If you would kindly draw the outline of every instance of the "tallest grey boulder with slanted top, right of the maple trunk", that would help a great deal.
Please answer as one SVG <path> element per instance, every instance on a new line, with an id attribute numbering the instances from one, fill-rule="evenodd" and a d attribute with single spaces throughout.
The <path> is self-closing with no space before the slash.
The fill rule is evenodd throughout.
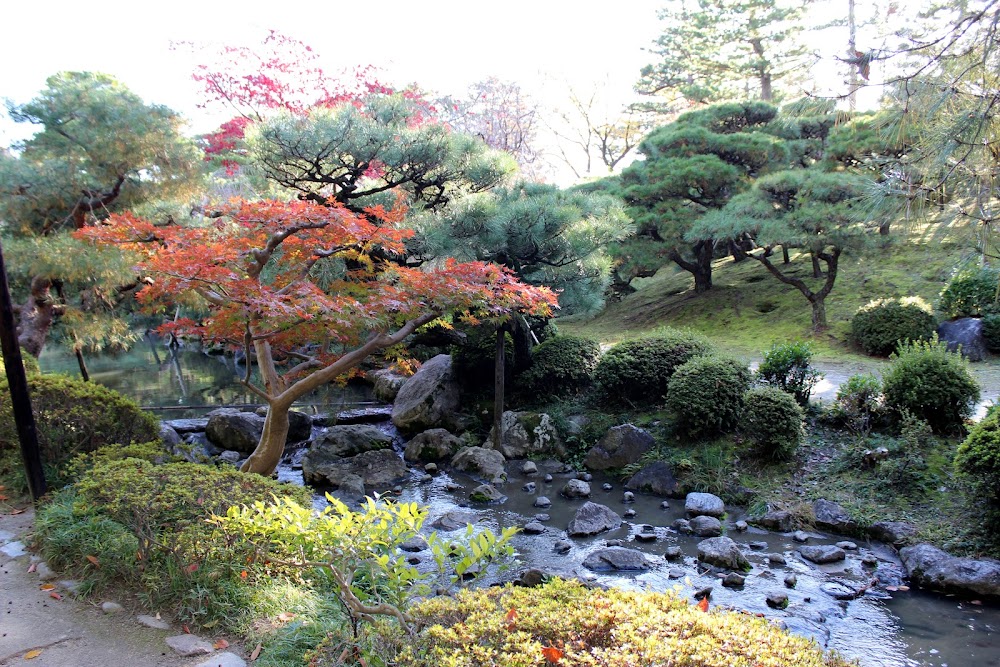
<path id="1" fill-rule="evenodd" d="M 396 394 L 392 423 L 404 433 L 429 428 L 455 428 L 459 408 L 459 386 L 451 368 L 451 356 L 439 354 L 425 362 Z"/>

